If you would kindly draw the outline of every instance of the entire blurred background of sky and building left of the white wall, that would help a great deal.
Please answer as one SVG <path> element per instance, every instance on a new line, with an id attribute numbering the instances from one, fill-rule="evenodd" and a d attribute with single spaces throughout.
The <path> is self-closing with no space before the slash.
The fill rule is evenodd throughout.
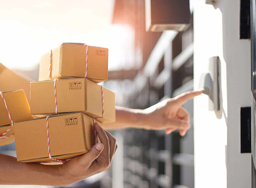
<path id="1" fill-rule="evenodd" d="M 145 109 L 194 88 L 193 0 L 180 2 L 190 6 L 187 30 L 146 32 L 145 0 L 0 0 L 0 62 L 38 80 L 41 55 L 61 43 L 109 48 L 104 86 L 115 91 L 116 105 Z M 193 101 L 184 108 L 191 114 L 185 137 L 113 131 L 110 170 L 68 187 L 194 188 Z M 0 152 L 15 156 L 15 144 Z"/>

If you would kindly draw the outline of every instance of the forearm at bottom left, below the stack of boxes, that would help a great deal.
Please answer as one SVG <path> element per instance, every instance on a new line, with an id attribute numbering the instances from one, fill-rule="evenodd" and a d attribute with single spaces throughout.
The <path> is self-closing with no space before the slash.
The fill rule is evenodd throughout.
<path id="1" fill-rule="evenodd" d="M 2 185 L 65 185 L 59 165 L 17 162 L 16 158 L 0 154 L 0 184 Z"/>

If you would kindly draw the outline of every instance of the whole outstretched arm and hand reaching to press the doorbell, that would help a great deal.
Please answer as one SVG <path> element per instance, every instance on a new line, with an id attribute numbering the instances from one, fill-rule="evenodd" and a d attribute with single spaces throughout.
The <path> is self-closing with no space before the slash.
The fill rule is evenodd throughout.
<path id="1" fill-rule="evenodd" d="M 203 91 L 189 91 L 161 101 L 147 109 L 116 107 L 116 122 L 103 124 L 103 127 L 105 129 L 165 129 L 166 134 L 179 129 L 180 135 L 184 136 L 190 127 L 190 122 L 189 113 L 182 107 L 182 104 L 202 93 Z"/>

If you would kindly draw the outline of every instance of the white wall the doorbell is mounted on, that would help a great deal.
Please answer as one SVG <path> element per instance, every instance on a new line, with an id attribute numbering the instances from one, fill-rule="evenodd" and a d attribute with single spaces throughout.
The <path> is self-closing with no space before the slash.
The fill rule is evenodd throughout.
<path id="1" fill-rule="evenodd" d="M 251 105 L 250 41 L 239 39 L 240 0 L 194 3 L 194 85 L 219 56 L 220 111 L 206 95 L 194 105 L 195 187 L 251 188 L 251 154 L 240 153 L 240 108 Z"/>

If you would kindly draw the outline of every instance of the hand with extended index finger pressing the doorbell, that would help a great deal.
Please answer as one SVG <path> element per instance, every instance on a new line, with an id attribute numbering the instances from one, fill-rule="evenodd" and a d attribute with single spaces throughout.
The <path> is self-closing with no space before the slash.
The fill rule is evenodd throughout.
<path id="1" fill-rule="evenodd" d="M 179 129 L 179 134 L 184 136 L 190 128 L 189 113 L 182 107 L 189 99 L 203 93 L 201 91 L 188 91 L 177 97 L 169 98 L 143 110 L 141 127 L 148 130 L 163 130 L 170 134 Z"/>

